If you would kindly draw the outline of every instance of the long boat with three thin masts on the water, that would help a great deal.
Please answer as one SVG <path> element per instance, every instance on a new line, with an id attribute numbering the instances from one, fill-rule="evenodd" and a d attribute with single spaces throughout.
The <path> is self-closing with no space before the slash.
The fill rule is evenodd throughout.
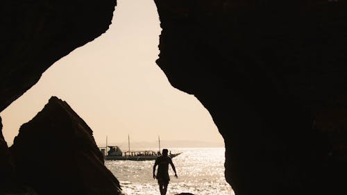
<path id="1" fill-rule="evenodd" d="M 128 135 L 128 151 L 123 152 L 119 148 L 119 146 L 108 146 L 107 144 L 107 137 L 106 137 L 106 147 L 101 149 L 101 152 L 104 155 L 105 160 L 155 160 L 158 158 L 158 156 L 161 155 L 160 153 L 160 137 L 158 137 L 159 141 L 159 151 L 130 151 L 130 137 Z M 109 150 L 108 150 L 109 148 Z M 181 153 L 171 153 L 169 152 L 169 157 L 174 158 Z"/>

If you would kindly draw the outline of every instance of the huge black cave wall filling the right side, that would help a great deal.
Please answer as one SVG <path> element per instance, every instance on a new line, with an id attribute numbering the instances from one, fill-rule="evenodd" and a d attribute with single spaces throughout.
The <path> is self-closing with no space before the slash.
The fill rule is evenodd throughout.
<path id="1" fill-rule="evenodd" d="M 346 1 L 154 1 L 157 64 L 210 111 L 236 194 L 346 194 L 346 137 L 316 125 L 346 105 Z"/>

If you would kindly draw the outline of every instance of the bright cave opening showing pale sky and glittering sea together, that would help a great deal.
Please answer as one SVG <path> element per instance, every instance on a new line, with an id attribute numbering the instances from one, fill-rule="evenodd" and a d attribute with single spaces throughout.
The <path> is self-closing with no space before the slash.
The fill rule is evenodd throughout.
<path id="1" fill-rule="evenodd" d="M 162 148 L 182 151 L 173 160 L 179 177 L 172 176 L 169 193 L 232 194 L 224 178 L 223 138 L 210 113 L 194 95 L 172 87 L 155 65 L 160 31 L 152 0 L 118 1 L 105 34 L 56 62 L 0 113 L 8 144 L 51 96 L 58 96 L 94 130 L 98 146 L 105 146 L 108 137 L 108 144 L 125 151 L 130 135 L 131 149 L 156 150 L 160 136 Z M 139 162 L 126 163 L 105 165 L 127 194 L 157 193 L 153 162 L 141 162 L 140 168 Z"/>

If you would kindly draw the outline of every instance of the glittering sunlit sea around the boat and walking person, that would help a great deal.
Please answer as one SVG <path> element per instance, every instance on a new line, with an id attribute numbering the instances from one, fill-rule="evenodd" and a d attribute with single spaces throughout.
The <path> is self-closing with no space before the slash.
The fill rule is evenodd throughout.
<path id="1" fill-rule="evenodd" d="M 178 178 L 169 166 L 170 183 L 167 195 L 192 193 L 195 195 L 235 195 L 224 178 L 224 148 L 168 148 L 171 153 L 182 152 L 172 158 Z M 156 151 L 156 150 L 155 150 Z M 160 194 L 153 179 L 154 160 L 105 161 L 105 166 L 118 178 L 123 194 Z M 158 169 L 158 167 L 157 167 Z"/>

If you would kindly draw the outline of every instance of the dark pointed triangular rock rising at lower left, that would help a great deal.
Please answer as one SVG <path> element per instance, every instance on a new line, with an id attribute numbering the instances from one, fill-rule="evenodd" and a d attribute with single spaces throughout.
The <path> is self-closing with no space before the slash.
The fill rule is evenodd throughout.
<path id="1" fill-rule="evenodd" d="M 55 96 L 21 126 L 10 151 L 19 178 L 40 195 L 120 192 L 90 127 Z"/>

